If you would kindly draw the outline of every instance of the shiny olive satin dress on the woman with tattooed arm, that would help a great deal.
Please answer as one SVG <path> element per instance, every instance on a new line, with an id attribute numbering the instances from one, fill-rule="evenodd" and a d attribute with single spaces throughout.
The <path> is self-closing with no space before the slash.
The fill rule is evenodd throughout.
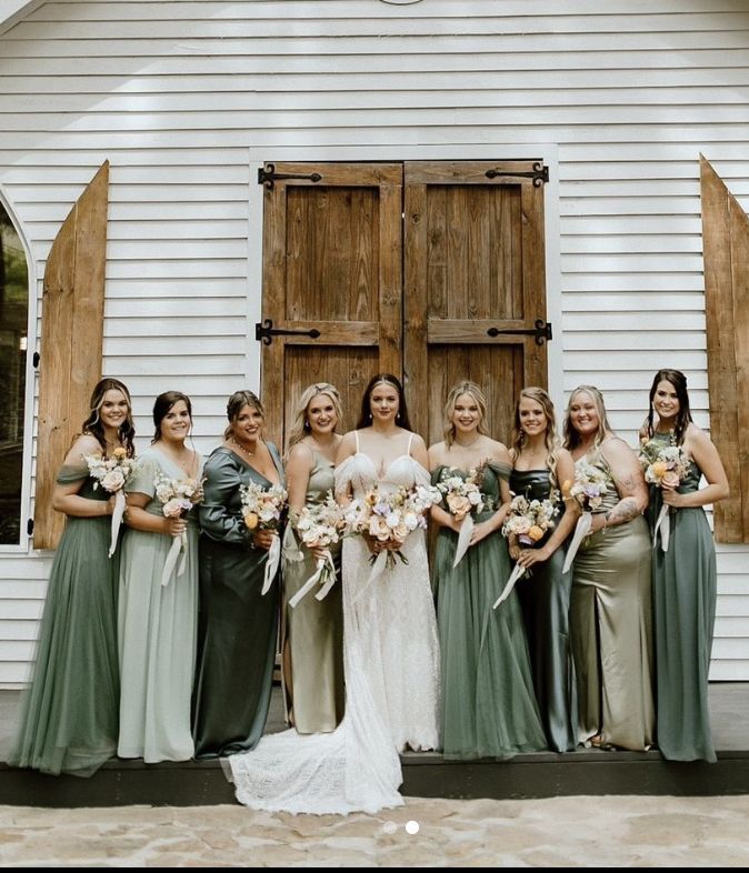
<path id="1" fill-rule="evenodd" d="M 586 461 L 607 476 L 597 513 L 621 500 L 606 459 Z M 648 524 L 638 515 L 580 544 L 572 568 L 570 634 L 578 682 L 579 739 L 632 751 L 653 742 L 652 625 Z"/>

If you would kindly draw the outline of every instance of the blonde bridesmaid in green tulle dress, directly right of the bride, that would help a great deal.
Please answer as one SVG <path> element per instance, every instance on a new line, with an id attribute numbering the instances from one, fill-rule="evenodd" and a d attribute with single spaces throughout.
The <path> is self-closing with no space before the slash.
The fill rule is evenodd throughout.
<path id="1" fill-rule="evenodd" d="M 445 404 L 445 440 L 429 449 L 432 484 L 479 471 L 487 505 L 473 513 L 471 545 L 453 569 L 466 514 L 433 505 L 439 525 L 433 581 L 442 660 L 440 741 L 445 757 L 510 757 L 546 747 L 517 596 L 492 604 L 510 575 L 499 534 L 510 500 L 507 448 L 487 435 L 487 403 L 460 382 Z"/>

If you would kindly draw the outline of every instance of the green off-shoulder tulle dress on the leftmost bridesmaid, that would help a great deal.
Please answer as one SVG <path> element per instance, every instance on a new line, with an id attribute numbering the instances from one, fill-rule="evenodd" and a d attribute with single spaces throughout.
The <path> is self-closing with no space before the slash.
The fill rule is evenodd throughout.
<path id="1" fill-rule="evenodd" d="M 80 496 L 109 500 L 86 465 L 63 466 L 59 484 L 83 481 Z M 119 550 L 108 558 L 111 516 L 68 516 L 41 619 L 31 688 L 8 763 L 90 776 L 117 752 Z M 127 534 L 123 539 L 127 539 Z"/>

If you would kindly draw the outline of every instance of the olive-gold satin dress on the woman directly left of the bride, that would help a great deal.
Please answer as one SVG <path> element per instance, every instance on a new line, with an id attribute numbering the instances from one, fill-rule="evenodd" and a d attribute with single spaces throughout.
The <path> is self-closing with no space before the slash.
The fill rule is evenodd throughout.
<path id="1" fill-rule="evenodd" d="M 333 463 L 312 452 L 314 465 L 307 488 L 307 504 L 324 503 L 333 491 Z M 300 545 L 292 525 L 283 538 L 284 636 L 291 659 L 291 678 L 286 685 L 289 718 L 299 733 L 334 731 L 343 718 L 343 604 L 341 600 L 341 544 L 332 545 L 337 581 L 323 600 L 310 591 L 293 608 L 289 600 L 317 572 L 309 549 Z"/>

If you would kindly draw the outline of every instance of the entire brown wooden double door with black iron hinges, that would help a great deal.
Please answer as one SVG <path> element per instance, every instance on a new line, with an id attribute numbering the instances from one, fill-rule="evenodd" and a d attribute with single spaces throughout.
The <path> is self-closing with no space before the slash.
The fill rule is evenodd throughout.
<path id="1" fill-rule="evenodd" d="M 390 372 L 428 444 L 462 379 L 507 442 L 519 389 L 547 384 L 545 173 L 530 160 L 266 164 L 256 330 L 271 438 L 321 381 L 353 428 L 368 381 Z"/>

